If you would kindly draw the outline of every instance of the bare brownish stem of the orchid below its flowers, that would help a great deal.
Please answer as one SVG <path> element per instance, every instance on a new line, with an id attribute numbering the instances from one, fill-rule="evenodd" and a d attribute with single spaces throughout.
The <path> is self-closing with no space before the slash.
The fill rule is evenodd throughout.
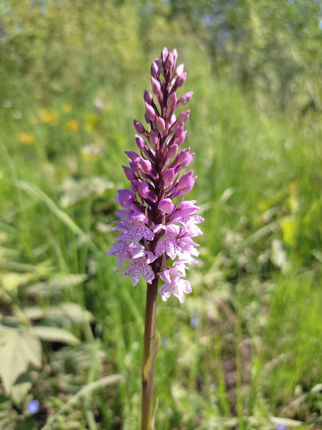
<path id="1" fill-rule="evenodd" d="M 143 369 L 149 356 L 155 348 L 155 319 L 157 307 L 159 276 L 155 275 L 152 284 L 148 284 L 146 290 L 146 317 L 144 326 L 144 346 L 143 346 Z M 150 430 L 153 403 L 153 369 L 154 359 L 149 365 L 149 371 L 142 377 L 142 420 L 141 430 Z"/>

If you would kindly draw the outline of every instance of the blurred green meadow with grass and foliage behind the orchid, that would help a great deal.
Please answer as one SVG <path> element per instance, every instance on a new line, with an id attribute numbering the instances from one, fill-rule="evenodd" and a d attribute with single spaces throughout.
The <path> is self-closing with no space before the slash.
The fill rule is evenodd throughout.
<path id="1" fill-rule="evenodd" d="M 155 429 L 321 427 L 322 3 L 1 0 L 1 429 L 139 428 L 146 285 L 103 253 L 164 46 L 205 222 Z"/>

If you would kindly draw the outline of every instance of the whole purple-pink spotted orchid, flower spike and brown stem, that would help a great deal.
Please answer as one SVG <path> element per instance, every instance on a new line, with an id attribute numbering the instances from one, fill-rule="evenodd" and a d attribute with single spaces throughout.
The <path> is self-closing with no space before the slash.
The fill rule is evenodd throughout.
<path id="1" fill-rule="evenodd" d="M 191 292 L 185 279 L 186 264 L 197 263 L 194 257 L 199 254 L 198 244 L 193 238 L 202 234 L 196 225 L 203 221 L 196 215 L 199 209 L 196 202 L 181 197 L 191 190 L 197 177 L 192 170 L 180 174 L 194 154 L 190 154 L 190 148 L 179 151 L 190 111 L 182 112 L 178 118 L 174 111 L 190 101 L 192 92 L 177 99 L 176 90 L 187 76 L 183 64 L 176 66 L 177 58 L 176 49 L 164 48 L 161 59 L 152 63 L 151 85 L 156 100 L 151 93 L 144 92 L 147 129 L 139 121 L 133 121 L 139 154 L 125 151 L 130 167 L 122 167 L 131 189 L 118 190 L 115 195 L 122 209 L 115 212 L 121 220 L 116 221 L 113 231 L 121 234 L 106 252 L 117 257 L 116 272 L 130 261 L 122 276 L 131 276 L 133 286 L 141 275 L 147 282 L 143 364 L 148 367 L 143 371 L 141 430 L 149 430 L 151 426 L 157 294 L 163 301 L 173 295 L 183 302 L 184 294 Z M 163 281 L 160 287 L 159 279 Z"/>

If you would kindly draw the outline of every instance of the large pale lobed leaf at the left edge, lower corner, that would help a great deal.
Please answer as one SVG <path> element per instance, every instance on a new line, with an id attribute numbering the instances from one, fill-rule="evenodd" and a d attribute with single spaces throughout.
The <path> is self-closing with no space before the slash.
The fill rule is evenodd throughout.
<path id="1" fill-rule="evenodd" d="M 0 338 L 0 377 L 6 395 L 19 375 L 28 366 L 41 367 L 41 343 L 29 330 L 1 327 Z"/>

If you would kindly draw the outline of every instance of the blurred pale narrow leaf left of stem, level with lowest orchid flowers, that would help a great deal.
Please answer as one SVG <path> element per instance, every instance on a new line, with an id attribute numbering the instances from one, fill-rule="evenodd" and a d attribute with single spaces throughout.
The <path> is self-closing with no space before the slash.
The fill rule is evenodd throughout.
<path id="1" fill-rule="evenodd" d="M 27 288 L 27 294 L 48 297 L 55 295 L 64 288 L 70 288 L 84 282 L 87 275 L 54 276 L 46 282 L 39 282 Z"/>

